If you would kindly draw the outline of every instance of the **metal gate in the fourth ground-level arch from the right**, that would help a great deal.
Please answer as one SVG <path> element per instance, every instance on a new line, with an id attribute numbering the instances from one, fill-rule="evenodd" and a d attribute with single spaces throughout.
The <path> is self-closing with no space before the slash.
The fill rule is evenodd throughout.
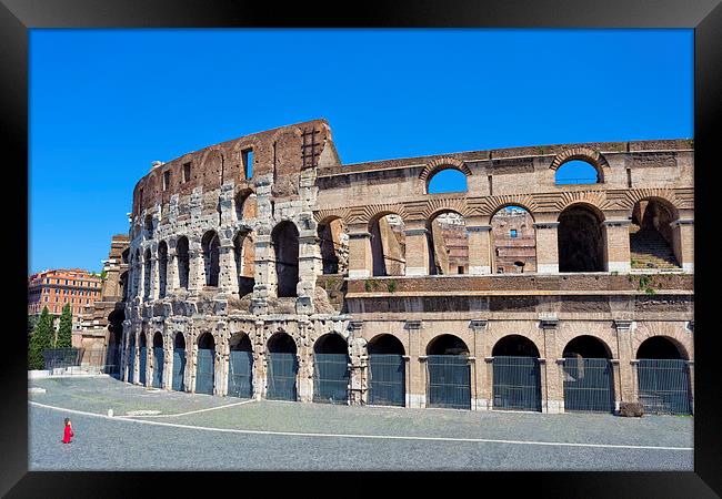
<path id="1" fill-rule="evenodd" d="M 429 355 L 428 407 L 471 409 L 471 368 L 463 355 Z"/>

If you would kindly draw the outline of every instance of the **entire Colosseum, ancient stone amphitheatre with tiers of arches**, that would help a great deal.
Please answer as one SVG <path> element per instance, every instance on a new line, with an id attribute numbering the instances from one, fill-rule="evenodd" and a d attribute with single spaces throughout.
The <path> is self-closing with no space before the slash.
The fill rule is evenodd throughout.
<path id="1" fill-rule="evenodd" d="M 342 164 L 313 120 L 154 162 L 110 307 L 117 376 L 300 403 L 691 414 L 693 155 L 661 140 Z M 560 182 L 576 161 L 594 177 Z M 442 172 L 465 187 L 434 193 Z"/>

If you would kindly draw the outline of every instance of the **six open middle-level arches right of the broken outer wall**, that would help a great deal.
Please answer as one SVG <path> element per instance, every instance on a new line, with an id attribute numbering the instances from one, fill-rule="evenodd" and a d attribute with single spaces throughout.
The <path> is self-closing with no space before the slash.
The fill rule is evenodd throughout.
<path id="1" fill-rule="evenodd" d="M 631 268 L 680 268 L 675 248 L 675 210 L 659 198 L 636 202 L 629 217 Z M 609 255 L 604 214 L 590 204 L 574 203 L 558 216 L 556 249 L 559 272 L 605 272 Z M 340 217 L 319 225 L 320 234 L 344 234 Z M 490 218 L 490 272 L 495 274 L 538 271 L 537 227 L 533 215 L 519 205 L 508 205 Z M 425 275 L 468 274 L 471 236 L 467 220 L 458 211 L 434 213 L 424 225 L 428 262 Z M 369 223 L 373 276 L 407 275 L 407 230 L 395 213 L 382 213 Z M 342 237 L 321 236 L 323 273 L 342 273 L 348 262 L 348 245 Z M 348 236 L 347 236 L 348 240 Z M 414 246 L 413 251 L 419 251 Z M 618 256 L 614 256 L 619 258 Z M 616 262 L 615 262 L 616 264 Z"/>

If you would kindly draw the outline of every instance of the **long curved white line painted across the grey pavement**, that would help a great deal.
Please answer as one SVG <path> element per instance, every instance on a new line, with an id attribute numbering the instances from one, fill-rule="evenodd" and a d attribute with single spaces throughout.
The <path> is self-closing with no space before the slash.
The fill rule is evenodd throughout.
<path id="1" fill-rule="evenodd" d="M 137 422 L 141 425 L 158 425 L 169 426 L 173 428 L 188 428 L 198 429 L 203 431 L 219 431 L 224 434 L 248 434 L 248 435 L 280 435 L 289 437 L 330 437 L 330 438 L 368 438 L 377 440 L 429 440 L 429 441 L 463 441 L 474 444 L 510 444 L 510 445 L 528 445 L 528 446 L 552 446 L 552 447 L 592 447 L 603 449 L 648 449 L 648 450 L 694 450 L 692 447 L 654 447 L 654 446 L 620 446 L 612 444 L 573 444 L 561 441 L 524 441 L 524 440 L 493 440 L 489 438 L 453 438 L 453 437 L 413 437 L 413 436 L 399 436 L 399 435 L 352 435 L 352 434 L 302 434 L 295 431 L 265 431 L 265 430 L 243 430 L 231 428 L 208 428 L 203 426 L 178 425 L 176 422 L 160 422 L 160 421 L 146 421 L 142 419 L 130 419 L 109 417 L 103 414 L 86 413 L 83 410 L 64 409 L 62 407 L 48 406 L 37 401 L 29 404 L 44 407 L 47 409 L 60 410 L 70 414 L 80 414 L 83 416 L 91 416 L 96 418 L 113 419 L 127 422 Z"/>

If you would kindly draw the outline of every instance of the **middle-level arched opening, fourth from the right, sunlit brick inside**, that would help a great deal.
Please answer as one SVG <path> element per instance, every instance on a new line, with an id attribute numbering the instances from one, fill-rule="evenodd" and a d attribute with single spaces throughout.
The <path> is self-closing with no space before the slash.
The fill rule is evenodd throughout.
<path id="1" fill-rule="evenodd" d="M 464 217 L 457 212 L 441 212 L 427 223 L 427 230 L 429 274 L 469 274 L 469 237 Z"/>

